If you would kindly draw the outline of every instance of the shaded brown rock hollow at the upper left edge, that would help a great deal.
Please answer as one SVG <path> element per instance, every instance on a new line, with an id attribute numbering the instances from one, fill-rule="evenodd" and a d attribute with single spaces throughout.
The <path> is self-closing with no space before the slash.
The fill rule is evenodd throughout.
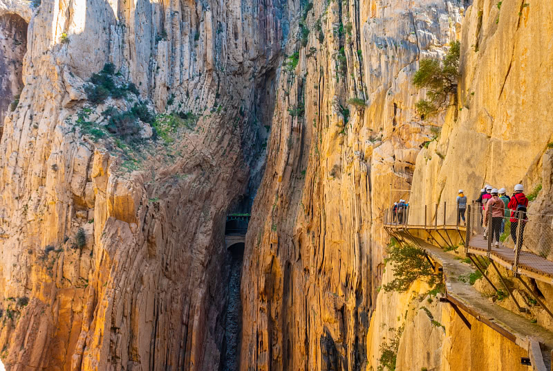
<path id="1" fill-rule="evenodd" d="M 17 14 L 0 15 L 0 125 L 4 114 L 17 99 L 23 80 L 23 57 L 27 51 L 27 22 Z M 1 135 L 1 129 L 0 129 Z"/>

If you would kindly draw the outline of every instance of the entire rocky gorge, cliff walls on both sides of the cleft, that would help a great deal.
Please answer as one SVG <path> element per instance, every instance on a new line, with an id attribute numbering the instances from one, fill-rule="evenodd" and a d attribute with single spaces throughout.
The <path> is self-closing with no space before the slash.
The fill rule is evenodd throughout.
<path id="1" fill-rule="evenodd" d="M 0 0 L 1 361 L 375 371 L 395 342 L 397 370 L 525 370 L 427 283 L 380 290 L 382 222 L 486 182 L 549 212 L 552 25 L 534 0 Z M 421 117 L 413 75 L 454 41 Z"/>

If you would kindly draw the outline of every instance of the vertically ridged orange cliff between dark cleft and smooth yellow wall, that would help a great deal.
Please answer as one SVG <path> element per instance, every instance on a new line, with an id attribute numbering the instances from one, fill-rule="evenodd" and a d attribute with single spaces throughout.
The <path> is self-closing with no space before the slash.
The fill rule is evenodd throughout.
<path id="1" fill-rule="evenodd" d="M 361 370 L 390 185 L 409 189 L 420 147 L 442 123 L 418 118 L 411 79 L 420 57 L 442 55 L 456 39 L 464 8 L 314 1 L 301 9 L 247 235 L 241 368 Z"/>

